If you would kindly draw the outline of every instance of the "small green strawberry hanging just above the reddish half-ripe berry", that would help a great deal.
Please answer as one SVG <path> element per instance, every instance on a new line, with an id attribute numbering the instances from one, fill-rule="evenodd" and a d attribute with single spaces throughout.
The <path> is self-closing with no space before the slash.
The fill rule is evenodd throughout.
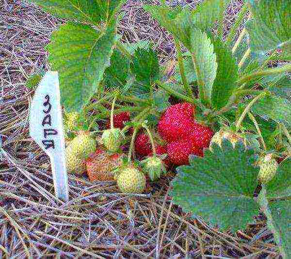
<path id="1" fill-rule="evenodd" d="M 123 139 L 123 135 L 120 129 L 108 129 L 105 130 L 101 137 L 101 143 L 106 147 L 106 149 L 110 152 L 117 152 L 119 149 L 121 142 Z"/>

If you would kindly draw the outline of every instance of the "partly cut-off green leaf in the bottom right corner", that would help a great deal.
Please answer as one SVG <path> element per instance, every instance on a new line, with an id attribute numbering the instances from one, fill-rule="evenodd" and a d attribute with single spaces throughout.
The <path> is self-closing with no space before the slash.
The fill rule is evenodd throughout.
<path id="1" fill-rule="evenodd" d="M 282 258 L 291 258 L 291 200 L 268 202 L 263 188 L 259 194 L 259 204 L 267 217 L 267 227 L 274 235 Z"/>

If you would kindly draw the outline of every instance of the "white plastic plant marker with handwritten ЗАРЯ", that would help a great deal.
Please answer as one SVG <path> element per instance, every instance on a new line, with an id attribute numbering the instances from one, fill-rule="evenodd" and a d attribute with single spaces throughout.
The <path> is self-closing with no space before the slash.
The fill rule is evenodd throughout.
<path id="1" fill-rule="evenodd" d="M 58 72 L 48 71 L 40 81 L 32 100 L 29 121 L 30 136 L 49 155 L 55 195 L 67 201 L 68 176 Z"/>

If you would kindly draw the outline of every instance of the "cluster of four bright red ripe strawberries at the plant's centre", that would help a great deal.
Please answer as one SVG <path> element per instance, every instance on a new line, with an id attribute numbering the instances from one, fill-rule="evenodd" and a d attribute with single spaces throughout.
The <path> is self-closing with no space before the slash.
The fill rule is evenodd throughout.
<path id="1" fill-rule="evenodd" d="M 189 164 L 189 155 L 203 156 L 214 132 L 207 126 L 194 120 L 195 108 L 190 103 L 171 105 L 162 114 L 158 122 L 158 132 L 166 145 L 157 145 L 157 154 L 167 154 L 164 162 L 174 165 Z M 152 149 L 146 134 L 140 134 L 135 140 L 135 151 L 139 155 L 151 155 Z"/>

